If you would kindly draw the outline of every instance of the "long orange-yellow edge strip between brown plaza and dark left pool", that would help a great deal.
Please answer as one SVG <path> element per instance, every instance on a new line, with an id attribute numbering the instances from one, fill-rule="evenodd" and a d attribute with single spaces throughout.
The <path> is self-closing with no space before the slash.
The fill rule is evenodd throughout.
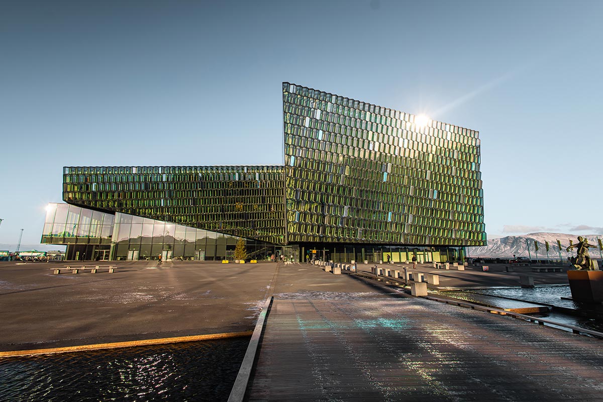
<path id="1" fill-rule="evenodd" d="M 36 354 L 68 353 L 68 352 L 81 352 L 81 351 L 87 351 L 87 350 L 131 348 L 131 347 L 135 347 L 135 346 L 175 344 L 178 342 L 210 341 L 212 339 L 241 338 L 243 336 L 251 336 L 251 334 L 253 334 L 253 331 L 227 332 L 227 333 L 219 333 L 219 334 L 192 335 L 192 336 L 177 336 L 174 338 L 142 339 L 140 341 L 111 342 L 111 343 L 107 343 L 107 344 L 92 344 L 92 345 L 78 345 L 78 346 L 68 346 L 68 347 L 64 347 L 64 348 L 11 350 L 11 351 L 0 352 L 0 357 L 34 356 Z"/>

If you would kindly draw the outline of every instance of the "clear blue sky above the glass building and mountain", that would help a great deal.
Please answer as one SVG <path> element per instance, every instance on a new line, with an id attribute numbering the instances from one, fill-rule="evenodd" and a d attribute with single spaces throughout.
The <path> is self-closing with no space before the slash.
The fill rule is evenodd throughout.
<path id="1" fill-rule="evenodd" d="M 602 21 L 602 1 L 4 0 L 0 243 L 39 242 L 63 166 L 282 163 L 282 81 L 479 130 L 488 237 L 603 233 Z"/>

